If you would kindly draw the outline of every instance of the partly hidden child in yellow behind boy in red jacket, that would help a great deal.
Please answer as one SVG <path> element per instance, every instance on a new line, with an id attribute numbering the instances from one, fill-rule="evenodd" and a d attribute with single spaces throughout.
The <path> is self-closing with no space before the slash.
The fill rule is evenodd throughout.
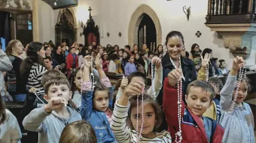
<path id="1" fill-rule="evenodd" d="M 209 78 L 209 83 L 212 84 L 212 87 L 215 90 L 215 96 L 212 100 L 212 105 L 210 108 L 207 109 L 207 111 L 203 114 L 204 117 L 212 118 L 213 120 L 217 120 L 219 122 L 221 118 L 221 107 L 220 107 L 220 101 L 216 99 L 216 96 L 220 95 L 221 89 L 223 87 L 223 83 L 220 78 L 217 77 L 211 77 Z"/>

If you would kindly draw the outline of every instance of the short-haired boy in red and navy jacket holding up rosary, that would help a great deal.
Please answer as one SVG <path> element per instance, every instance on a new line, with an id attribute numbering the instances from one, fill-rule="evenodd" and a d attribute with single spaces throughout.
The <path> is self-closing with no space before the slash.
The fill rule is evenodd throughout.
<path id="1" fill-rule="evenodd" d="M 215 96 L 214 89 L 209 82 L 193 81 L 187 87 L 184 105 L 181 99 L 181 124 L 178 120 L 178 79 L 181 78 L 181 70 L 173 69 L 163 84 L 163 111 L 172 138 L 179 131 L 181 125 L 182 142 L 213 142 L 220 143 L 224 135 L 224 129 L 203 113 L 212 104 Z M 182 93 L 181 93 L 182 95 Z M 179 139 L 179 138 L 178 138 Z"/>

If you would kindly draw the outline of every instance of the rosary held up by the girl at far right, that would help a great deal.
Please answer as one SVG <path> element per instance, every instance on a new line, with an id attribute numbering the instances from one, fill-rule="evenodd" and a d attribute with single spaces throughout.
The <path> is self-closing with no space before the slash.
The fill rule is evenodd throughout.
<path id="1" fill-rule="evenodd" d="M 238 90 L 239 90 L 239 87 L 240 87 L 240 84 L 242 82 L 242 76 L 244 78 L 246 78 L 246 74 L 245 74 L 245 68 L 242 67 L 242 65 L 240 65 L 240 69 L 239 69 L 239 78 L 238 78 L 238 81 L 237 81 L 237 85 L 236 85 L 236 93 L 235 93 L 235 96 L 232 100 L 232 103 L 230 105 L 230 110 L 228 111 L 228 113 L 232 113 L 233 112 L 233 109 L 235 108 L 235 105 L 236 105 L 236 99 L 237 99 L 237 96 L 238 96 Z"/>

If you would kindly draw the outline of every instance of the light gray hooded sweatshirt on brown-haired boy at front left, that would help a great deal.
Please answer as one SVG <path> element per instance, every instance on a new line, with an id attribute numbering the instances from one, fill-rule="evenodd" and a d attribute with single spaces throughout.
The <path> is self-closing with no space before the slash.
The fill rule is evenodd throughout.
<path id="1" fill-rule="evenodd" d="M 39 132 L 38 143 L 58 143 L 62 130 L 69 123 L 82 120 L 81 115 L 73 108 L 68 108 L 69 119 L 59 117 L 55 111 L 47 114 L 44 107 L 35 108 L 23 120 L 25 129 L 32 132 Z"/>

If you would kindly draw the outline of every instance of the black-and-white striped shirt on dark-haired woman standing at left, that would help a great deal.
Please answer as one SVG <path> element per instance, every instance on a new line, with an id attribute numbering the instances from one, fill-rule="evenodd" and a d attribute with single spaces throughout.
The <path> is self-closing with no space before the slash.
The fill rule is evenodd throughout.
<path id="1" fill-rule="evenodd" d="M 41 78 L 42 75 L 47 71 L 46 68 L 42 65 L 32 65 L 30 72 L 29 72 L 29 78 L 26 87 L 35 87 L 37 89 L 36 93 L 38 96 L 44 96 L 44 86 L 41 85 Z"/>

